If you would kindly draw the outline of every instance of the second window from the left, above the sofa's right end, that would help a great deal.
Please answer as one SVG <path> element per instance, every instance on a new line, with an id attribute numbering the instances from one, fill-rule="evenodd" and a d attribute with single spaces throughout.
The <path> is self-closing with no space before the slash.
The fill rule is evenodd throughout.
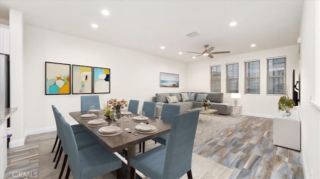
<path id="1" fill-rule="evenodd" d="M 238 64 L 226 65 L 226 92 L 238 93 Z"/>

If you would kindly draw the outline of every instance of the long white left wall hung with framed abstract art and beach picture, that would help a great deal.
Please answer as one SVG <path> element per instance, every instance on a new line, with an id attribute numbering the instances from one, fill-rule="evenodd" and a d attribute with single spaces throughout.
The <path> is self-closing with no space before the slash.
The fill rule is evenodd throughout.
<path id="1" fill-rule="evenodd" d="M 155 93 L 186 89 L 186 64 L 40 28 L 25 27 L 23 120 L 27 131 L 55 126 L 51 105 L 70 122 L 68 112 L 80 110 L 79 94 L 44 95 L 45 61 L 110 68 L 110 94 L 99 94 L 102 106 L 110 98 L 151 101 Z M 179 74 L 178 88 L 159 87 L 160 72 Z"/>

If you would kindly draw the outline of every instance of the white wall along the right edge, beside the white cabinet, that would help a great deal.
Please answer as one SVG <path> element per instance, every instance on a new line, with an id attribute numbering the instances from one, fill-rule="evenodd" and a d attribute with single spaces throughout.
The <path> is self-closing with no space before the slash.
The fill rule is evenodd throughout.
<path id="1" fill-rule="evenodd" d="M 309 104 L 311 96 L 319 98 L 319 78 L 316 71 L 319 67 L 319 48 L 315 45 L 315 24 L 319 25 L 319 1 L 307 0 L 303 2 L 300 25 L 300 79 L 301 101 L 298 112 L 301 120 L 301 151 L 306 178 L 320 178 L 320 112 Z M 317 32 L 318 33 L 318 32 Z M 319 38 L 317 36 L 317 38 Z M 317 56 L 317 58 L 315 58 Z M 318 75 L 318 74 L 317 74 Z M 317 90 L 315 90 L 317 89 Z M 311 170 L 313 172 L 311 172 Z"/>

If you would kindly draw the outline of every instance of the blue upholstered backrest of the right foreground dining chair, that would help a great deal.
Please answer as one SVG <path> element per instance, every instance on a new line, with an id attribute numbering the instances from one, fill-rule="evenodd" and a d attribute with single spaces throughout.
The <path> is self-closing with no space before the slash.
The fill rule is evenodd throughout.
<path id="1" fill-rule="evenodd" d="M 164 159 L 163 178 L 180 178 L 191 170 L 192 150 L 199 111 L 173 117 Z"/>

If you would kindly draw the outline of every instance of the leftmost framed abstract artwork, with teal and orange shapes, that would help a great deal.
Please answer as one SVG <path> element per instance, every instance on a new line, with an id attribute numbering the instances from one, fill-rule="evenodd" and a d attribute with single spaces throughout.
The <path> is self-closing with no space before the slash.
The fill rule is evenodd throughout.
<path id="1" fill-rule="evenodd" d="M 45 62 L 45 95 L 70 94 L 70 66 Z"/>

